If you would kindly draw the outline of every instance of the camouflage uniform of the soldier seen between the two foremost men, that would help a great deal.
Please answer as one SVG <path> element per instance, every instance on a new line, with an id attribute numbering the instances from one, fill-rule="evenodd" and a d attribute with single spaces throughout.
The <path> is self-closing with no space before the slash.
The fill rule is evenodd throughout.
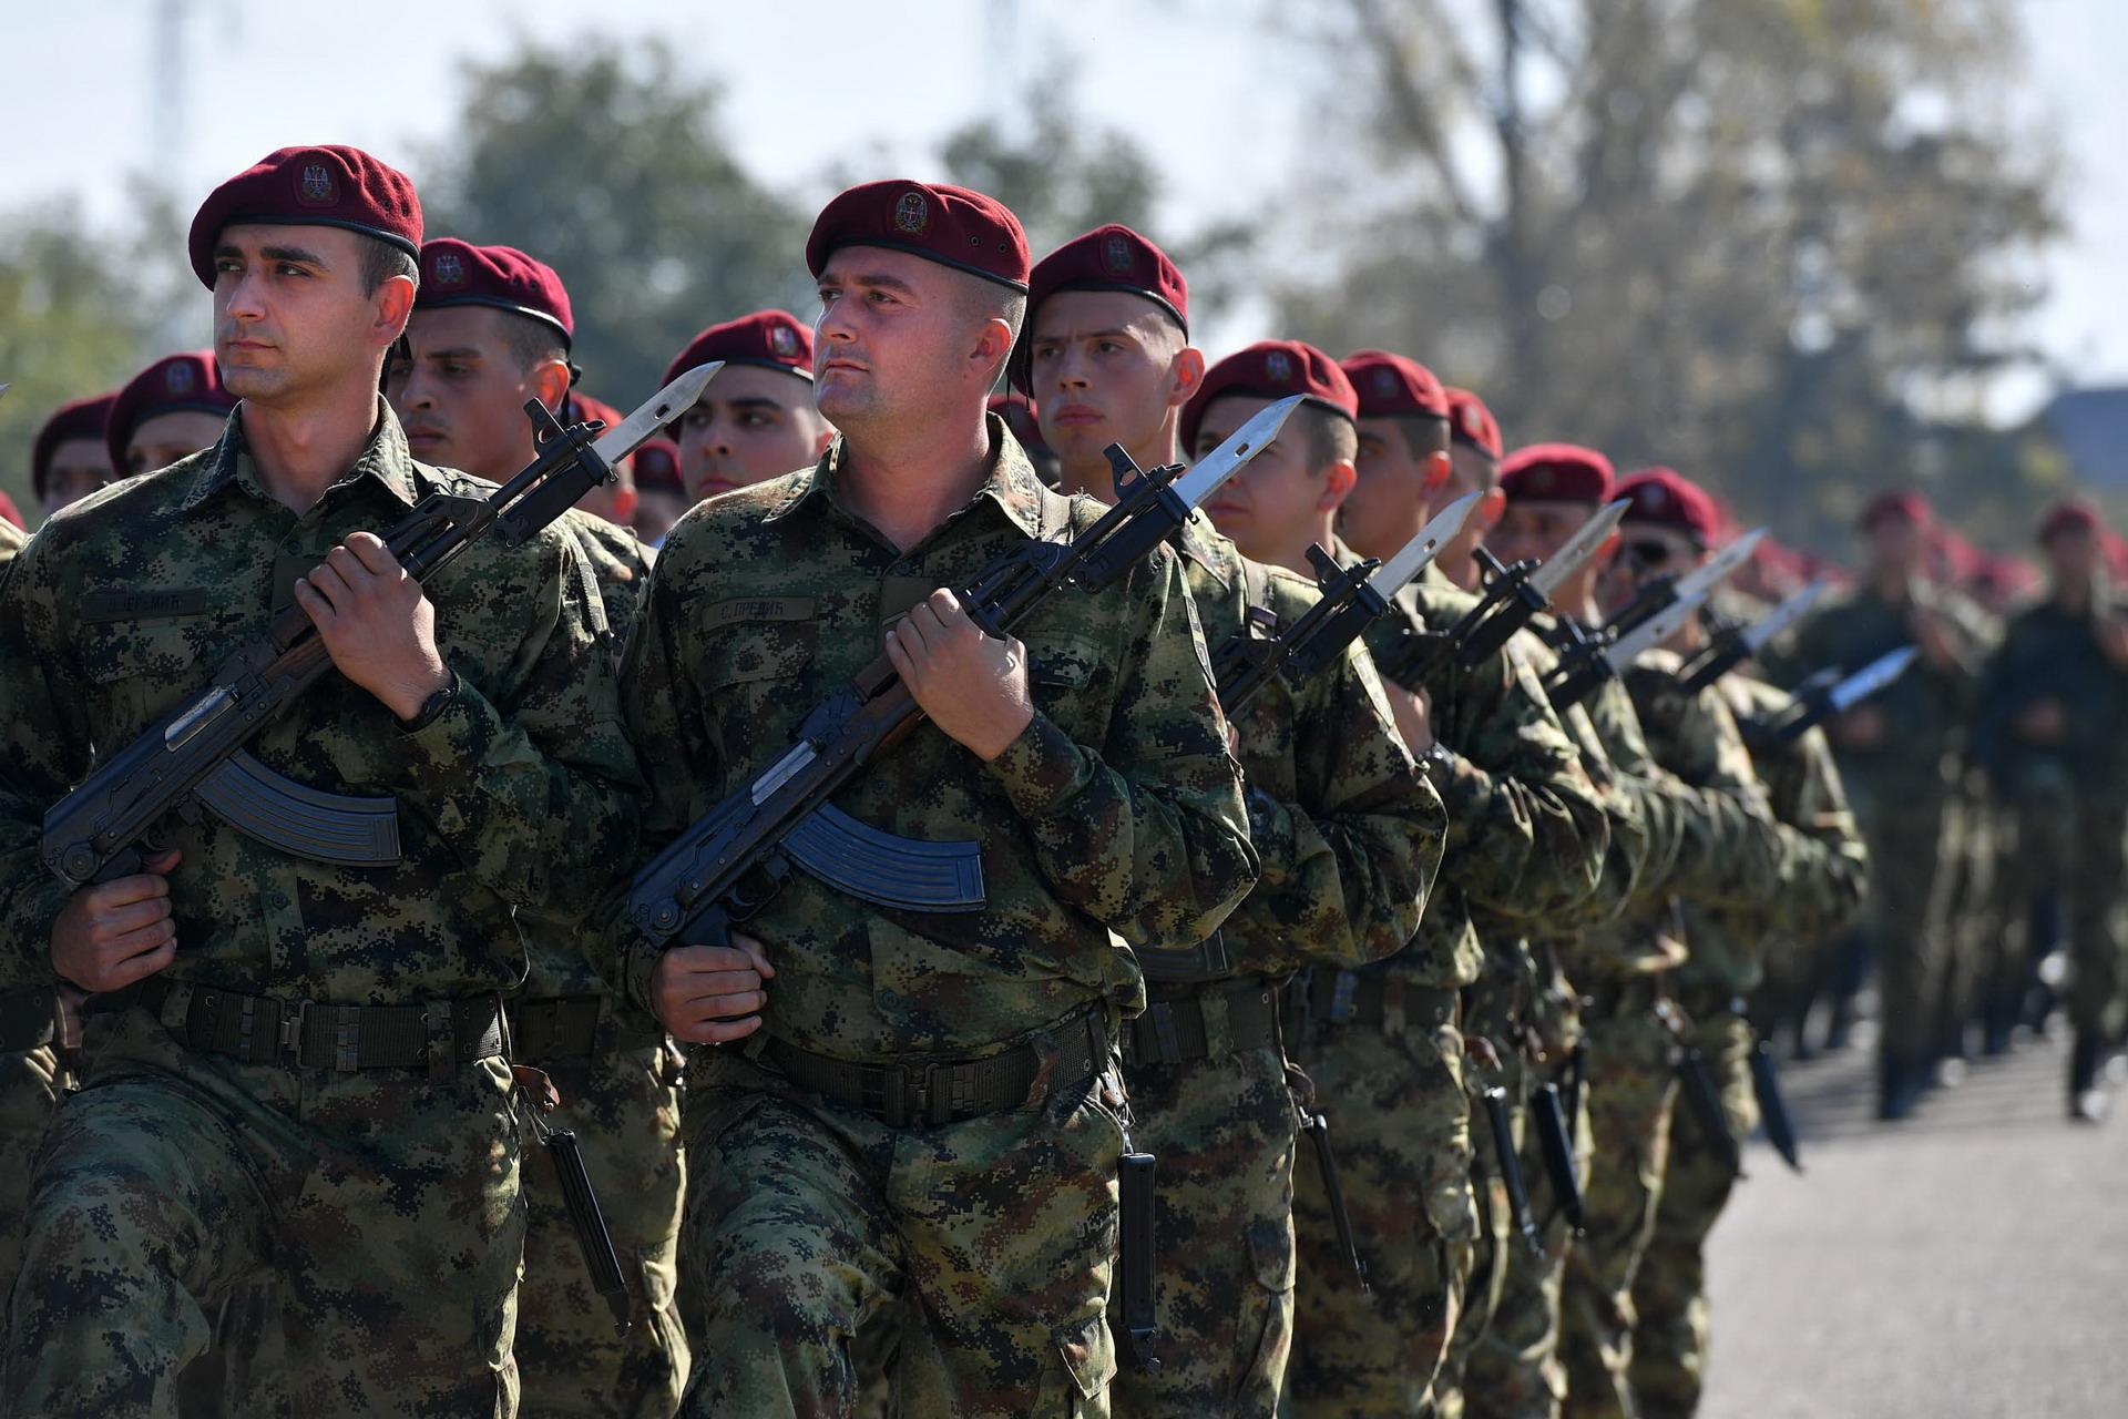
<path id="1" fill-rule="evenodd" d="M 651 560 L 634 532 L 570 511 L 564 525 L 598 577 L 606 645 L 619 662 Z M 517 1368 L 528 1415 L 662 1417 L 679 1408 L 687 1336 L 675 1296 L 685 1193 L 679 1066 L 658 1023 L 613 996 L 564 928 L 519 913 L 532 962 L 511 998 L 511 1047 L 562 1094 L 549 1115 L 577 1134 L 634 1317 L 615 1334 L 545 1149 L 526 1159 L 526 1266 Z"/>

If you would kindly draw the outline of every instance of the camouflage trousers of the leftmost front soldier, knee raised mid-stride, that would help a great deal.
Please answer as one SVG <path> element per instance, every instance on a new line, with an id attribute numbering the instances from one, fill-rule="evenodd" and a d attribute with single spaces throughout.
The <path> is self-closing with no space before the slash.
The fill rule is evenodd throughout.
<path id="1" fill-rule="evenodd" d="M 179 1370 L 260 1279 L 285 1349 L 223 1357 L 245 1413 L 515 1413 L 502 1059 L 445 1081 L 236 1064 L 145 1011 L 92 1017 L 83 1055 L 36 1159 L 9 1415 L 177 1415 Z"/>

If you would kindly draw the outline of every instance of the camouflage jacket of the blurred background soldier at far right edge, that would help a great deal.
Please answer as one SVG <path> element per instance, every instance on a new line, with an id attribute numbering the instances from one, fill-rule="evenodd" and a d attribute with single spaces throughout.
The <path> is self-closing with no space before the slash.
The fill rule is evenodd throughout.
<path id="1" fill-rule="evenodd" d="M 2128 617 L 2100 591 L 2096 608 L 2066 611 L 2047 598 L 2011 617 L 1988 660 L 1973 721 L 1973 753 L 1996 794 L 2011 802 L 2060 798 L 2068 789 L 2128 800 L 2128 670 L 2098 642 L 2098 617 Z M 1909 670 L 1913 674 L 1913 670 Z M 1890 691 L 1888 691 L 1890 694 Z M 2032 742 L 2017 719 L 2041 700 L 2062 706 L 2062 738 Z"/>

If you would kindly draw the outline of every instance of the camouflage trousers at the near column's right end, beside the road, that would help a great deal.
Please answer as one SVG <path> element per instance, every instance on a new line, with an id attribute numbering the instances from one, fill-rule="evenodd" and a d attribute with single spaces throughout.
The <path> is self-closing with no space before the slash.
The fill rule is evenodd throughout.
<path id="1" fill-rule="evenodd" d="M 1728 1011 L 1705 1011 L 1694 1017 L 1692 1036 L 1722 1091 L 1730 1136 L 1749 1138 L 1758 1128 L 1751 1028 Z M 1670 1128 L 1656 1236 L 1632 1279 L 1632 1398 L 1641 1419 L 1690 1419 L 1700 1406 L 1709 1334 L 1707 1234 L 1734 1183 L 1698 1119 L 1679 1119 Z"/>

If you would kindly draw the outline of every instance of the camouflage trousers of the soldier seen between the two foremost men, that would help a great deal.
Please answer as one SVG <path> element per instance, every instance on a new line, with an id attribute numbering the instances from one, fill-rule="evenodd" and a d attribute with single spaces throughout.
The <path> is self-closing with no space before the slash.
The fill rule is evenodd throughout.
<path id="1" fill-rule="evenodd" d="M 534 1062 L 538 1064 L 538 1062 Z M 543 1064 L 562 1091 L 549 1115 L 575 1130 L 592 1189 L 621 1259 L 634 1317 L 615 1334 L 592 1289 L 547 1149 L 526 1149 L 526 1266 L 517 1287 L 517 1370 L 526 1415 L 662 1419 L 687 1381 L 675 1298 L 685 1168 L 679 1070 L 660 1038 L 600 1023 L 592 1059 Z"/>

